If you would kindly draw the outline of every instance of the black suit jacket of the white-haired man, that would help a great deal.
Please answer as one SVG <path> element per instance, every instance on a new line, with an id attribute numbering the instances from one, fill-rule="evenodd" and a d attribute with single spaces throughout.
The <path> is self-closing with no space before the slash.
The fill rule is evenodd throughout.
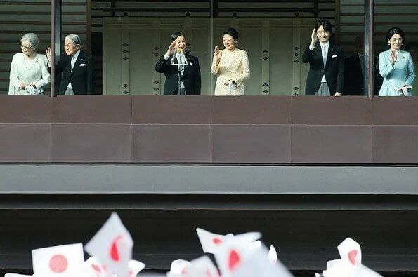
<path id="1" fill-rule="evenodd" d="M 64 94 L 68 83 L 71 81 L 74 95 L 94 94 L 94 69 L 93 56 L 89 53 L 80 51 L 74 67 L 71 71 L 71 56 L 61 55 L 55 67 L 55 73 L 61 76 L 58 94 Z"/>

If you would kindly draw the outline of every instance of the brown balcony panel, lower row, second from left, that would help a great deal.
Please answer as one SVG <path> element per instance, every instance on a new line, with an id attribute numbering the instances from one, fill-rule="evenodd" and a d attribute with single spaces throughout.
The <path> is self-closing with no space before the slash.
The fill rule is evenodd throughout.
<path id="1" fill-rule="evenodd" d="M 130 162 L 128 124 L 52 124 L 53 162 Z"/>

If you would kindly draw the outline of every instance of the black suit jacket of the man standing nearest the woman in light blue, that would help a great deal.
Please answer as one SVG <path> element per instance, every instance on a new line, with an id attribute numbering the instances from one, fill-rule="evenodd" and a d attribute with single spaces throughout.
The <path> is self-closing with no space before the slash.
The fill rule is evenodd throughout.
<path id="1" fill-rule="evenodd" d="M 310 50 L 309 44 L 306 44 L 305 52 L 302 55 L 302 62 L 309 62 L 310 65 L 308 78 L 306 79 L 305 95 L 315 95 L 324 74 L 331 95 L 335 95 L 336 91 L 343 93 L 344 56 L 341 46 L 337 46 L 329 41 L 325 69 L 319 41 L 315 43 L 313 50 Z"/>

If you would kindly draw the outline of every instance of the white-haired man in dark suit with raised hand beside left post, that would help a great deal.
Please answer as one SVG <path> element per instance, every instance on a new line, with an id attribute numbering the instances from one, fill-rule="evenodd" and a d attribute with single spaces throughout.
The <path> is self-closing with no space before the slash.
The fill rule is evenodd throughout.
<path id="1" fill-rule="evenodd" d="M 77 34 L 65 36 L 64 49 L 67 55 L 61 56 L 55 67 L 56 75 L 61 75 L 58 94 L 94 94 L 93 56 L 81 50 Z M 51 48 L 46 50 L 46 57 L 51 61 Z"/>

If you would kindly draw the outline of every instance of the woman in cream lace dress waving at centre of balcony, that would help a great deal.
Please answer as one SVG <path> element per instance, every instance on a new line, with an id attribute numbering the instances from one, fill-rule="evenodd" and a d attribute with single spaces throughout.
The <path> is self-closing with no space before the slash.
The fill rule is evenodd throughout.
<path id="1" fill-rule="evenodd" d="M 244 81 L 249 78 L 247 52 L 236 47 L 239 34 L 228 28 L 223 31 L 223 46 L 215 47 L 211 72 L 218 74 L 215 95 L 244 95 Z"/>

